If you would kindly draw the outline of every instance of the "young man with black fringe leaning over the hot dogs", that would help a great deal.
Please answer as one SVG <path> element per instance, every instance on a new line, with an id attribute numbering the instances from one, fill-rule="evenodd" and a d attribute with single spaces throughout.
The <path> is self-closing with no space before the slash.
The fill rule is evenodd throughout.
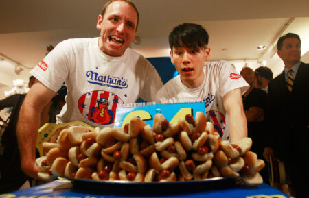
<path id="1" fill-rule="evenodd" d="M 242 93 L 249 88 L 228 62 L 210 62 L 207 31 L 198 24 L 183 23 L 169 36 L 170 56 L 179 75 L 157 93 L 157 101 L 201 99 L 206 116 L 223 140 L 232 143 L 247 137 Z"/>

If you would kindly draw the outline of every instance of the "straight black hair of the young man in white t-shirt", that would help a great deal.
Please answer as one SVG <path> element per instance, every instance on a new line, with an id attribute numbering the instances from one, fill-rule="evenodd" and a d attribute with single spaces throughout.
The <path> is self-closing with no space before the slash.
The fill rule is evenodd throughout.
<path id="1" fill-rule="evenodd" d="M 168 37 L 171 50 L 173 47 L 185 47 L 194 50 L 201 47 L 206 48 L 208 39 L 207 31 L 201 25 L 194 23 L 183 23 L 174 27 Z"/>

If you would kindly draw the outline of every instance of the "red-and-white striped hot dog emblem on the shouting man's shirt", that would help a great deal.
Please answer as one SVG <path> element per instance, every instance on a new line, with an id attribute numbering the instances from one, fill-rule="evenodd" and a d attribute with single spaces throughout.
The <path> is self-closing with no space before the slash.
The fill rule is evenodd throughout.
<path id="1" fill-rule="evenodd" d="M 78 109 L 89 121 L 109 125 L 114 123 L 118 103 L 124 102 L 114 93 L 95 90 L 78 99 Z"/>

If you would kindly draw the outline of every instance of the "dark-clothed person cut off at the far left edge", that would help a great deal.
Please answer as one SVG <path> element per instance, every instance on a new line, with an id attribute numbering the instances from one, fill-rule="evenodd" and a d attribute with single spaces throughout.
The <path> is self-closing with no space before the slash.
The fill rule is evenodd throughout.
<path id="1" fill-rule="evenodd" d="M 35 77 L 30 76 L 28 87 L 34 84 Z M 19 110 L 26 94 L 14 94 L 0 100 L 0 110 L 11 108 L 3 134 L 0 134 L 0 194 L 30 187 L 32 178 L 21 170 L 21 159 L 17 145 L 16 125 Z"/>

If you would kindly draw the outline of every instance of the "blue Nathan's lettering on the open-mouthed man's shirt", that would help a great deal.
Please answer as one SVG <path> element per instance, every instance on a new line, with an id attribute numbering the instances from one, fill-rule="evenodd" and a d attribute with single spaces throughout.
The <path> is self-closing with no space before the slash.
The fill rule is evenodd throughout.
<path id="1" fill-rule="evenodd" d="M 108 86 L 113 88 L 127 88 L 128 84 L 123 77 L 113 77 L 110 75 L 99 75 L 95 71 L 87 71 L 86 77 L 89 77 L 88 82 L 98 84 L 100 86 Z"/>

